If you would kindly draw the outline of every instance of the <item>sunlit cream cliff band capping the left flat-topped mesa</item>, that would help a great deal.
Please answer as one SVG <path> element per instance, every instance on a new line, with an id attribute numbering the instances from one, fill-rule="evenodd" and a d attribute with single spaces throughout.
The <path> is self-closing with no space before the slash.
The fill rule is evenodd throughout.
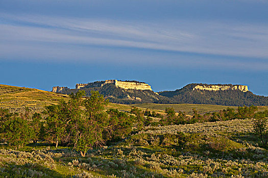
<path id="1" fill-rule="evenodd" d="M 76 89 L 84 87 L 101 87 L 105 84 L 114 84 L 116 87 L 124 89 L 133 89 L 133 90 L 151 90 L 152 88 L 149 84 L 138 82 L 138 81 L 118 81 L 118 80 L 105 80 L 105 81 L 96 81 L 93 83 L 77 83 Z"/>

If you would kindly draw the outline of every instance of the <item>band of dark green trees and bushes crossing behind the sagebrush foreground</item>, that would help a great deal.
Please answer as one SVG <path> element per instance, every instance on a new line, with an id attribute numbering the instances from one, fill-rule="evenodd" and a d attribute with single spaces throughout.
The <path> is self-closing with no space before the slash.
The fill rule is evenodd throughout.
<path id="1" fill-rule="evenodd" d="M 167 126 L 203 122 L 229 121 L 254 118 L 254 132 L 260 136 L 263 145 L 268 142 L 268 111 L 257 112 L 256 106 L 238 107 L 200 114 L 193 109 L 192 115 L 176 113 L 174 108 L 166 108 L 165 115 L 142 111 L 134 107 L 130 113 L 117 109 L 105 111 L 108 101 L 99 92 L 91 92 L 83 98 L 84 92 L 71 94 L 68 102 L 47 106 L 40 113 L 11 113 L 0 108 L 0 136 L 15 149 L 31 142 L 72 146 L 85 156 L 93 147 L 111 144 L 136 133 L 146 126 Z"/>

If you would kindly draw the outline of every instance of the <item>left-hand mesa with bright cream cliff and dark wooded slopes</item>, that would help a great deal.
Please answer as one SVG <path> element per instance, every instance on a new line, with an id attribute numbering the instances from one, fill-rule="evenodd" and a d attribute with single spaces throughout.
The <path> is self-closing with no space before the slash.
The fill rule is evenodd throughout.
<path id="1" fill-rule="evenodd" d="M 112 103 L 168 103 L 167 97 L 158 95 L 152 91 L 150 85 L 139 81 L 95 81 L 92 83 L 78 83 L 75 89 L 54 86 L 52 91 L 69 95 L 77 93 L 79 90 L 84 90 L 87 96 L 90 96 L 91 91 L 99 91 Z"/>

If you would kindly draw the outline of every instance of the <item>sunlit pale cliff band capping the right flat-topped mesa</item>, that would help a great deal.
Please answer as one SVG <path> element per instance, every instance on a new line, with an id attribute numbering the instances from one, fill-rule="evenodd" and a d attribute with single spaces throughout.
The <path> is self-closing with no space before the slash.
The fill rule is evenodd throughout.
<path id="1" fill-rule="evenodd" d="M 197 85 L 192 90 L 203 91 L 220 91 L 220 90 L 240 90 L 241 92 L 248 92 L 247 85 Z"/>

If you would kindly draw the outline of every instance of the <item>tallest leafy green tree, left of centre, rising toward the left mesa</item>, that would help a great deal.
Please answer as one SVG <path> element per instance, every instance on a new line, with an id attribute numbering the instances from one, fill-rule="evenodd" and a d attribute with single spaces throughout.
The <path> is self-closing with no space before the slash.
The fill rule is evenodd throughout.
<path id="1" fill-rule="evenodd" d="M 102 133 L 108 126 L 108 114 L 104 106 L 107 104 L 108 101 L 103 95 L 92 91 L 90 98 L 84 102 L 84 115 L 72 122 L 72 143 L 82 157 L 93 146 L 99 146 L 104 142 Z"/>

